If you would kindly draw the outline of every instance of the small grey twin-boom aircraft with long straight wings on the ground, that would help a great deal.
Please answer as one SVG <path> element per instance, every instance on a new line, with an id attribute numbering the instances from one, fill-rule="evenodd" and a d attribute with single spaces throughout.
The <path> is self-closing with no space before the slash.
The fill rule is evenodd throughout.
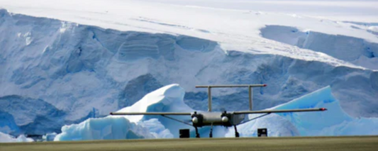
<path id="1" fill-rule="evenodd" d="M 196 86 L 196 88 L 207 88 L 208 91 L 208 104 L 209 109 L 208 111 L 204 112 L 197 112 L 194 111 L 193 113 L 185 113 L 185 112 L 175 112 L 175 113 L 167 113 L 167 112 L 116 112 L 110 113 L 113 116 L 138 116 L 138 115 L 150 115 L 150 116 L 163 116 L 165 118 L 169 118 L 171 120 L 184 123 L 190 126 L 193 126 L 196 129 L 196 138 L 200 138 L 198 133 L 198 128 L 203 126 L 211 126 L 209 137 L 213 137 L 213 126 L 221 125 L 224 127 L 231 127 L 235 129 L 235 138 L 239 138 L 238 129 L 236 125 L 240 125 L 246 123 L 248 121 L 255 120 L 257 118 L 262 118 L 263 116 L 267 116 L 270 113 L 287 113 L 287 112 L 308 112 L 308 111 L 326 111 L 326 108 L 306 108 L 306 109 L 285 109 L 285 110 L 263 110 L 263 111 L 252 111 L 252 88 L 254 87 L 265 87 L 267 84 L 244 84 L 244 85 L 209 85 L 209 86 Z M 212 112 L 211 111 L 211 89 L 212 88 L 226 88 L 226 87 L 248 87 L 248 94 L 249 94 L 249 103 L 250 103 L 250 111 L 222 111 L 222 112 Z M 232 104 L 230 104 L 232 105 Z M 248 114 L 260 114 L 255 118 L 245 118 L 245 115 Z M 172 118 L 171 116 L 190 116 L 191 123 L 187 123 L 185 121 L 179 120 L 177 118 Z"/>

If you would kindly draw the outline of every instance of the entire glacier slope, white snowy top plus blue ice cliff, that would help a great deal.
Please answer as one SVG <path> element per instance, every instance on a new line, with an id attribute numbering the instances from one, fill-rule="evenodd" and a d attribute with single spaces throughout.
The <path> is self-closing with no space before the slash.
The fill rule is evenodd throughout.
<path id="1" fill-rule="evenodd" d="M 0 11 L 1 132 L 60 133 L 64 124 L 107 116 L 172 83 L 196 110 L 206 110 L 207 99 L 196 84 L 268 84 L 255 89 L 255 109 L 330 85 L 351 116 L 378 116 L 376 23 L 181 2 L 0 0 L 12 12 Z M 285 35 L 287 29 L 297 32 Z M 328 40 L 350 41 L 348 53 Z M 247 109 L 244 89 L 213 96 L 215 110 Z M 226 106 L 230 100 L 234 106 Z"/>

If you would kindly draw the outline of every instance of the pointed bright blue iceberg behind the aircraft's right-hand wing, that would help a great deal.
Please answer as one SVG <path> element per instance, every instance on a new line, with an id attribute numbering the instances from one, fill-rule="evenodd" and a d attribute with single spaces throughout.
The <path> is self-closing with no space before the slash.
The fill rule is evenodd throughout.
<path id="1" fill-rule="evenodd" d="M 257 136 L 267 128 L 268 136 L 378 135 L 377 118 L 352 118 L 331 93 L 329 86 L 286 104 L 269 109 L 328 108 L 323 112 L 277 113 L 239 125 L 241 136 Z M 253 118 L 256 115 L 250 115 Z M 231 137 L 234 131 L 226 135 Z"/>

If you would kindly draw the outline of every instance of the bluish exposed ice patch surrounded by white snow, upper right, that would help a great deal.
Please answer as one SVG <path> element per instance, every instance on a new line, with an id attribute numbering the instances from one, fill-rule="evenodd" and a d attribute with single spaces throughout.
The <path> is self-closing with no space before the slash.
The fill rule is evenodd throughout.
<path id="1" fill-rule="evenodd" d="M 369 43 L 362 38 L 299 30 L 289 26 L 266 26 L 261 29 L 261 35 L 289 45 L 323 52 L 368 69 L 378 69 L 378 43 Z"/>

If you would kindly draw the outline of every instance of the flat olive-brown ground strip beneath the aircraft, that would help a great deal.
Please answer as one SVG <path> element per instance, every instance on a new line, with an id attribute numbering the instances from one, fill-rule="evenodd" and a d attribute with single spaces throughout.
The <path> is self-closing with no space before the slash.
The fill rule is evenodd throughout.
<path id="1" fill-rule="evenodd" d="M 0 143 L 0 150 L 377 150 L 378 136 Z"/>

